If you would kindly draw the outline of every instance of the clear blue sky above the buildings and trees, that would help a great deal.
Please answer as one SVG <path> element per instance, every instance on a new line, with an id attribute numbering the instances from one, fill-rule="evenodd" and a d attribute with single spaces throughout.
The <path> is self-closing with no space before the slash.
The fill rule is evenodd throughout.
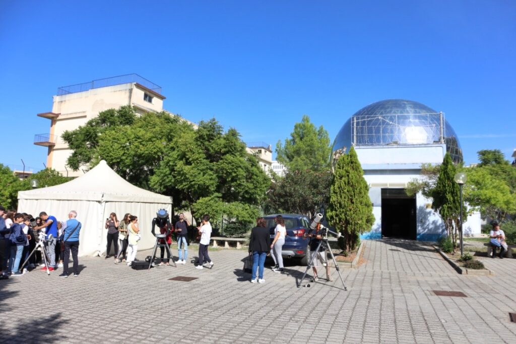
<path id="1" fill-rule="evenodd" d="M 39 170 L 57 87 L 138 73 L 165 108 L 275 146 L 367 104 L 444 111 L 466 163 L 516 148 L 516 2 L 0 0 L 0 162 Z"/>

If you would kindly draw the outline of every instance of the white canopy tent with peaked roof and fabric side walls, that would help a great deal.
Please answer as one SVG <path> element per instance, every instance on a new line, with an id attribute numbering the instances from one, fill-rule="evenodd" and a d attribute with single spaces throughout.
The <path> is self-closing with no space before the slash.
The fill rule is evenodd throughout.
<path id="1" fill-rule="evenodd" d="M 129 212 L 138 217 L 141 240 L 138 250 L 154 247 L 151 233 L 156 211 L 172 211 L 172 198 L 140 189 L 128 183 L 102 160 L 86 174 L 65 184 L 18 192 L 18 211 L 39 215 L 45 211 L 58 221 L 68 220 L 70 210 L 77 211 L 82 223 L 79 256 L 106 252 L 106 218 L 115 212 L 119 220 Z"/>

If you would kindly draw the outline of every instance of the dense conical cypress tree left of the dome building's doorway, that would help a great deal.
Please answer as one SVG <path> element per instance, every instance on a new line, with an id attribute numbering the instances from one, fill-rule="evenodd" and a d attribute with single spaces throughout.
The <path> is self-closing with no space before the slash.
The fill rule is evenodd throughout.
<path id="1" fill-rule="evenodd" d="M 375 221 L 369 187 L 353 147 L 337 160 L 326 215 L 328 223 L 342 233 L 339 243 L 347 254 Z"/>

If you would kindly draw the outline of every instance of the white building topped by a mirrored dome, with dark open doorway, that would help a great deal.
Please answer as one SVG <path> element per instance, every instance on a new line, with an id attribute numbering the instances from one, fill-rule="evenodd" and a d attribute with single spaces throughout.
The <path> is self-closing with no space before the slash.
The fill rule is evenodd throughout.
<path id="1" fill-rule="evenodd" d="M 422 194 L 407 196 L 405 188 L 421 178 L 423 163 L 442 163 L 446 152 L 462 162 L 460 142 L 443 112 L 413 101 L 379 101 L 357 111 L 338 132 L 332 159 L 354 146 L 369 184 L 375 223 L 363 239 L 401 238 L 435 241 L 444 224 Z M 480 233 L 480 215 L 463 225 L 464 234 Z"/>

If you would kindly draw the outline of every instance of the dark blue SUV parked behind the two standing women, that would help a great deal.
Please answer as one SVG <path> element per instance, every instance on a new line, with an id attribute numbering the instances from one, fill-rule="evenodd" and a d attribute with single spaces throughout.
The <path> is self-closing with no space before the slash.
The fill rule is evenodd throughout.
<path id="1" fill-rule="evenodd" d="M 270 231 L 271 240 L 274 239 L 274 228 L 276 228 L 276 222 L 274 220 L 278 215 L 281 215 L 285 220 L 285 228 L 287 230 L 281 255 L 283 258 L 300 259 L 301 265 L 306 266 L 308 263 L 308 239 L 303 238 L 303 234 L 308 233 L 310 229 L 309 219 L 299 214 L 274 214 L 264 216 L 263 218 L 267 222 L 267 228 L 269 228 Z"/>

